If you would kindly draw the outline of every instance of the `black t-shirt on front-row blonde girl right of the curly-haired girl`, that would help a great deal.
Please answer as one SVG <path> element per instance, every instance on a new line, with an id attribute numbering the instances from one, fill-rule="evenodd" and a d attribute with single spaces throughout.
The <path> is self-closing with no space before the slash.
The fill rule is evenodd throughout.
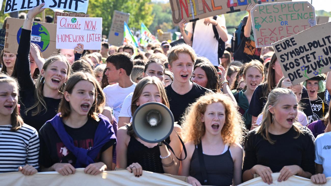
<path id="1" fill-rule="evenodd" d="M 297 136 L 294 127 L 281 135 L 269 133 L 270 138 L 276 141 L 273 145 L 261 134 L 255 134 L 256 129 L 250 131 L 244 143 L 243 172 L 254 165 L 270 167 L 272 172 L 279 172 L 287 165 L 298 165 L 315 174 L 315 138 L 307 127 L 304 128 L 307 130 L 297 139 L 294 139 Z"/>

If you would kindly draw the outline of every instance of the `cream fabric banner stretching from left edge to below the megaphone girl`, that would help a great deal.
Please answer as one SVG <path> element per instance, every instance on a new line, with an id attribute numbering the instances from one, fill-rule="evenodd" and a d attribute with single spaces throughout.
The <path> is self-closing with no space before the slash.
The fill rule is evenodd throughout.
<path id="1" fill-rule="evenodd" d="M 0 174 L 0 185 L 11 186 L 84 186 L 84 185 L 134 185 L 134 186 L 189 186 L 190 184 L 163 174 L 143 171 L 142 176 L 135 177 L 127 170 L 106 171 L 99 175 L 84 173 L 83 168 L 76 169 L 75 174 L 62 176 L 58 172 L 39 172 L 24 176 L 21 172 Z"/>

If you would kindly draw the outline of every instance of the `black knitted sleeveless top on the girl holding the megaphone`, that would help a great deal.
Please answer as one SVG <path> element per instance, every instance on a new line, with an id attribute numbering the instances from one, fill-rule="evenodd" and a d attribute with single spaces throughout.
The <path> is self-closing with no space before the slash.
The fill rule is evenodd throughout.
<path id="1" fill-rule="evenodd" d="M 170 137 L 165 141 L 170 144 Z M 159 146 L 148 148 L 140 143 L 135 137 L 131 136 L 129 144 L 127 145 L 126 166 L 129 166 L 132 163 L 139 163 L 143 170 L 164 173 L 160 155 Z"/>

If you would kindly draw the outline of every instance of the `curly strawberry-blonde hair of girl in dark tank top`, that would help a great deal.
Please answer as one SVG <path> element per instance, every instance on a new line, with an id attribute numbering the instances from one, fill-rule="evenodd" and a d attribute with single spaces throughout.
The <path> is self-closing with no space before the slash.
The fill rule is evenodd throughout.
<path id="1" fill-rule="evenodd" d="M 206 133 L 201 116 L 206 112 L 208 105 L 222 103 L 225 107 L 225 122 L 221 130 L 221 136 L 225 144 L 243 143 L 246 127 L 237 108 L 228 95 L 221 93 L 208 93 L 201 96 L 195 103 L 190 105 L 185 112 L 182 123 L 182 136 L 185 142 L 192 141 L 199 144 Z"/>

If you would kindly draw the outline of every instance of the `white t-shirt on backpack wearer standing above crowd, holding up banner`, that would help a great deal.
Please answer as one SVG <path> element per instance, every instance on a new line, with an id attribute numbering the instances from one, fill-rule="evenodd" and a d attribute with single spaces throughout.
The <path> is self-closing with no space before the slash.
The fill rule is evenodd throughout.
<path id="1" fill-rule="evenodd" d="M 218 41 L 214 37 L 213 25 L 205 25 L 204 21 L 205 19 L 201 19 L 195 23 L 192 48 L 197 56 L 206 57 L 214 66 L 218 66 Z M 217 16 L 216 21 L 226 28 L 224 15 Z M 193 33 L 192 22 L 187 23 L 185 30 Z"/>

